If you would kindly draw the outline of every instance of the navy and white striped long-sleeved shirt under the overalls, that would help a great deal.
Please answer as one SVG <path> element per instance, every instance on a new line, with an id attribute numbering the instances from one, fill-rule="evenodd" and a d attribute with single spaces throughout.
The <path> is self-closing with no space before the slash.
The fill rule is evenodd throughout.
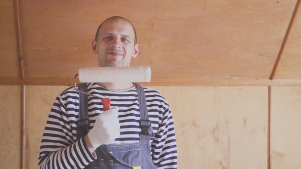
<path id="1" fill-rule="evenodd" d="M 177 168 L 177 146 L 174 120 L 165 98 L 156 90 L 143 87 L 149 120 L 154 132 L 150 140 L 151 158 L 158 169 Z M 119 108 L 120 136 L 110 144 L 134 143 L 140 140 L 139 101 L 135 87 L 109 90 L 88 83 L 88 93 L 111 99 L 111 107 Z M 100 99 L 88 96 L 89 128 L 103 111 Z M 43 133 L 38 164 L 40 169 L 83 169 L 95 161 L 84 138 L 77 137 L 79 94 L 74 87 L 62 91 L 55 99 Z"/>

